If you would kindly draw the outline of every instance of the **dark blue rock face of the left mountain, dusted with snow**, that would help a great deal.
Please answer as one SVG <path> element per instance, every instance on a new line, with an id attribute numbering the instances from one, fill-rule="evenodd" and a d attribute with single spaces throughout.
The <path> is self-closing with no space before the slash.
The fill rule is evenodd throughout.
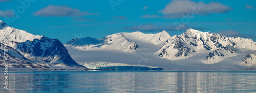
<path id="1" fill-rule="evenodd" d="M 79 66 L 69 55 L 68 50 L 57 39 L 50 39 L 48 37 L 41 37 L 41 39 L 27 40 L 26 42 L 16 43 L 17 50 L 22 53 L 31 54 L 40 60 L 47 63 L 54 58 L 62 60 L 67 66 Z"/>

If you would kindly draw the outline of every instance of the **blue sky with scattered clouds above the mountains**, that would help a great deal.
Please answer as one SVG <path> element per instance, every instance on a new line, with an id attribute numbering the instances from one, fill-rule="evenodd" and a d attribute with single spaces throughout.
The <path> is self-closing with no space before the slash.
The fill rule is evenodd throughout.
<path id="1" fill-rule="evenodd" d="M 29 6 L 20 3 L 24 1 L 29 1 Z M 137 30 L 179 35 L 187 28 L 256 41 L 256 2 L 251 0 L 0 0 L 0 6 L 0 20 L 9 26 L 62 43 Z"/>

